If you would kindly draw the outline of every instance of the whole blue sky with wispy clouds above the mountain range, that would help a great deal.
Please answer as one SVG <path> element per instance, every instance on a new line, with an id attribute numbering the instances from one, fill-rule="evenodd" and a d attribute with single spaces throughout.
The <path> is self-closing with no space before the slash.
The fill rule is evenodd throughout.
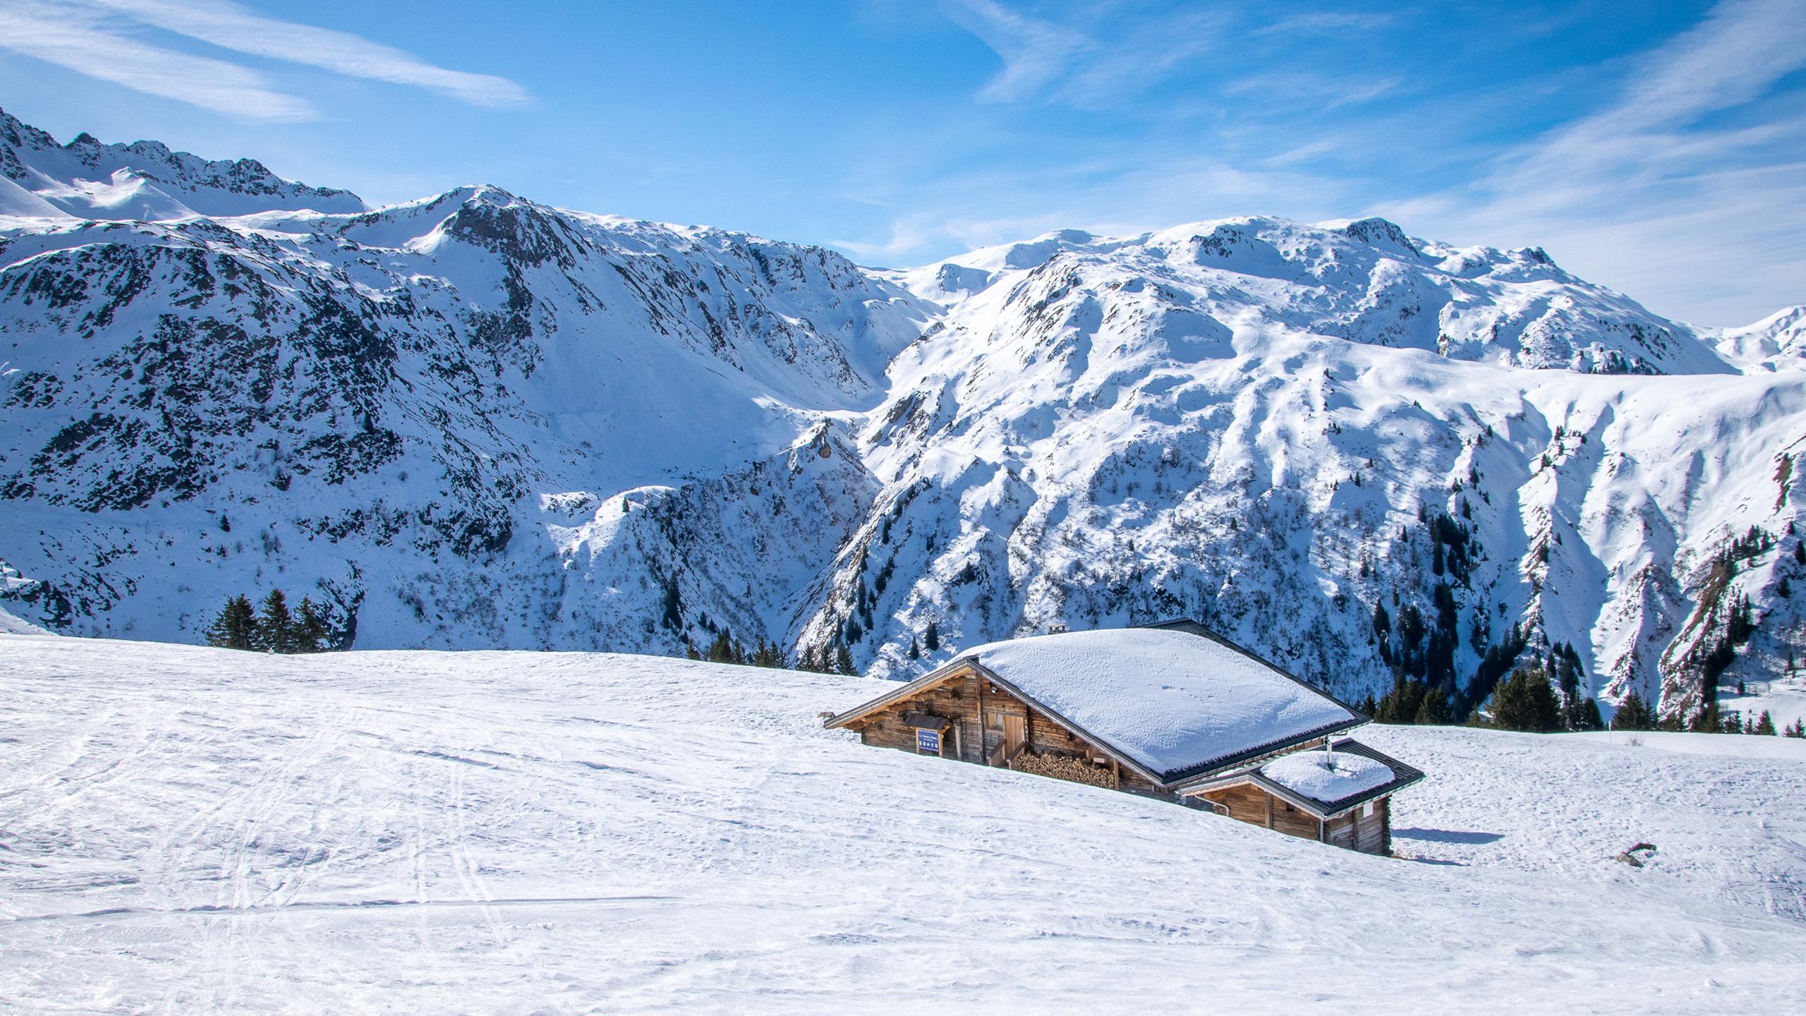
<path id="1" fill-rule="evenodd" d="M 1806 13 L 1721 4 L 0 0 L 0 107 L 919 264 L 1380 213 L 1658 313 L 1806 302 Z"/>

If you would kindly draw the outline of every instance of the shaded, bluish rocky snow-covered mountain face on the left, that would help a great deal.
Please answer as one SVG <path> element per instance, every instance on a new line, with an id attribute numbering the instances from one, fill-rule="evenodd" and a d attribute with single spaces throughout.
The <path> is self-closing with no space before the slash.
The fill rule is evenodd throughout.
<path id="1" fill-rule="evenodd" d="M 284 586 L 377 645 L 674 653 L 666 602 L 791 642 L 876 490 L 834 419 L 925 304 L 822 248 L 486 186 L 287 204 L 0 231 L 0 560 L 42 622 L 195 640 Z"/>

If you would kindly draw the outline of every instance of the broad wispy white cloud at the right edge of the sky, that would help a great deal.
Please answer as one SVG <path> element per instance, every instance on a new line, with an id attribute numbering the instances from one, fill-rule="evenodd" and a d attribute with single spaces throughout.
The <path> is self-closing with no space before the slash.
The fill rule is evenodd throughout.
<path id="1" fill-rule="evenodd" d="M 1797 0 L 1732 0 L 1629 67 L 1622 96 L 1380 213 L 1457 242 L 1541 244 L 1577 275 L 1699 324 L 1806 302 L 1806 118 L 1754 108 L 1806 67 Z M 1719 282 L 1710 282 L 1719 280 Z"/>

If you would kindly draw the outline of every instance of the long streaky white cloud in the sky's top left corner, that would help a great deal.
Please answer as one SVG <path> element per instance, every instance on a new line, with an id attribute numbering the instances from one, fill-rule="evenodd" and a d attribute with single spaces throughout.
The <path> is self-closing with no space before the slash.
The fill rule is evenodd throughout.
<path id="1" fill-rule="evenodd" d="M 412 85 L 479 107 L 531 103 L 493 74 L 450 71 L 350 33 L 265 18 L 229 0 L 47 0 L 0 7 L 0 47 L 137 92 L 258 121 L 312 119 L 307 99 L 256 71 L 137 38 L 143 29 L 320 67 L 349 78 Z"/>

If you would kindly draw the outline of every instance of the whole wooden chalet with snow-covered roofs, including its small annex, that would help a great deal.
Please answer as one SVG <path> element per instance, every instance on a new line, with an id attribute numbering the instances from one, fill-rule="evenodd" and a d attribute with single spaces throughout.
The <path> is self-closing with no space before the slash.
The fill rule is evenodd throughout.
<path id="1" fill-rule="evenodd" d="M 867 745 L 1208 808 L 1389 853 L 1423 772 L 1338 734 L 1367 718 L 1192 620 L 991 642 L 825 721 Z"/>

